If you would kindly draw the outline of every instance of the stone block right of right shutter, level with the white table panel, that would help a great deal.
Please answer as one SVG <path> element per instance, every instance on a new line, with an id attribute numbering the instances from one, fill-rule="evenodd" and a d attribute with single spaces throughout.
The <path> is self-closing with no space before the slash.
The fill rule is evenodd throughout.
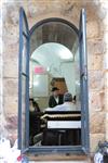
<path id="1" fill-rule="evenodd" d="M 95 112 L 90 116 L 90 133 L 91 134 L 104 134 L 105 133 L 105 113 Z"/>

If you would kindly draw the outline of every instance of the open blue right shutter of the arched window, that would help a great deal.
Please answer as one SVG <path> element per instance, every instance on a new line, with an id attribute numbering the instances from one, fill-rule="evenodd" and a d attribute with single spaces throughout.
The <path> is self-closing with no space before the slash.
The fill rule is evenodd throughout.
<path id="1" fill-rule="evenodd" d="M 86 54 L 86 14 L 81 10 L 79 24 L 80 79 L 81 79 L 81 138 L 82 149 L 89 152 L 89 102 L 87 102 L 87 54 Z"/>

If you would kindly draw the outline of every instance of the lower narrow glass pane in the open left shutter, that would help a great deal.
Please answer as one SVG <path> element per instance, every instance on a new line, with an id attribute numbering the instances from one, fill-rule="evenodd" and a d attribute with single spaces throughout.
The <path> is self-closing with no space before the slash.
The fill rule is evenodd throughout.
<path id="1" fill-rule="evenodd" d="M 26 76 L 22 75 L 22 148 L 26 147 Z"/>

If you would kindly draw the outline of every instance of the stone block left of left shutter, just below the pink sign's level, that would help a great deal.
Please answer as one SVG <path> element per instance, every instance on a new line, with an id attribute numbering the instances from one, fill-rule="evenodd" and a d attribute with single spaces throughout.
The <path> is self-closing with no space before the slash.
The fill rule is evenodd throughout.
<path id="1" fill-rule="evenodd" d="M 18 80 L 16 78 L 4 78 L 3 93 L 6 97 L 16 97 L 18 95 Z"/>

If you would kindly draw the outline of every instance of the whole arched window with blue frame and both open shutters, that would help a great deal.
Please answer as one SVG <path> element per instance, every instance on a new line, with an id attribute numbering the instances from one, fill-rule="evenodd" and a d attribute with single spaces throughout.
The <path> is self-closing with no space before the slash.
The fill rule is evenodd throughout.
<path id="1" fill-rule="evenodd" d="M 18 67 L 18 148 L 22 151 L 41 152 L 89 152 L 87 62 L 86 62 L 85 11 L 82 9 L 79 29 L 70 22 L 51 17 L 28 28 L 23 8 L 19 11 L 19 67 Z M 30 68 L 29 68 L 30 65 Z M 68 120 L 51 120 L 41 128 L 44 108 L 52 86 L 60 93 L 69 91 L 76 110 L 68 112 Z M 41 113 L 36 113 L 36 127 L 30 146 L 29 99 L 37 100 Z M 51 113 L 52 114 L 52 113 Z M 58 114 L 55 113 L 55 114 Z M 57 115 L 55 115 L 56 117 Z M 58 115 L 59 116 L 59 115 Z M 64 116 L 64 113 L 60 113 Z M 69 117 L 70 116 L 70 117 Z M 77 118 L 78 117 L 78 118 Z M 58 117 L 57 117 L 58 118 Z M 40 122 L 40 123 L 39 123 Z M 54 127 L 56 122 L 56 126 Z M 44 124 L 43 124 L 44 125 Z M 52 127 L 51 127 L 52 126 Z M 40 130 L 39 130 L 40 129 Z M 50 134 L 48 133 L 50 130 Z M 55 133 L 52 134 L 52 130 Z M 77 131 L 73 131 L 77 130 Z M 44 143 L 44 138 L 56 135 L 55 145 Z M 77 143 L 72 137 L 79 137 Z M 64 139 L 64 140 L 63 140 Z M 67 141 L 68 139 L 69 141 Z M 38 141 L 40 140 L 40 141 Z M 52 139 L 54 142 L 54 139 Z M 62 142 L 63 141 L 63 142 Z M 76 141 L 76 140 L 75 140 Z M 46 141 L 45 141 L 46 142 Z M 66 142 L 66 143 L 64 143 Z"/>

